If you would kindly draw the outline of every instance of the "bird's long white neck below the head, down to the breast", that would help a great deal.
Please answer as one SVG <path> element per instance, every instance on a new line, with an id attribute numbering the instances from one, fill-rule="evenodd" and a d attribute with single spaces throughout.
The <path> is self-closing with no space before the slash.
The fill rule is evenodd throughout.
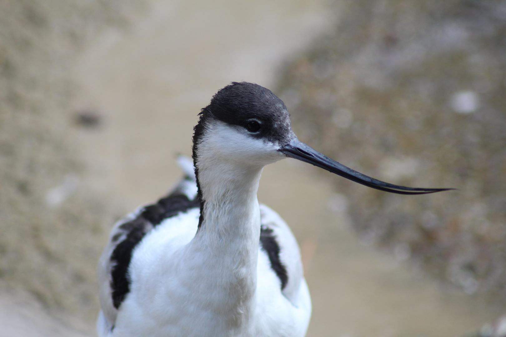
<path id="1" fill-rule="evenodd" d="M 199 157 L 197 167 L 203 221 L 188 245 L 188 256 L 194 257 L 191 263 L 203 273 L 201 289 L 209 294 L 209 310 L 219 311 L 214 313 L 215 323 L 226 330 L 241 330 L 251 317 L 257 287 L 257 190 L 262 166 L 246 168 Z"/>

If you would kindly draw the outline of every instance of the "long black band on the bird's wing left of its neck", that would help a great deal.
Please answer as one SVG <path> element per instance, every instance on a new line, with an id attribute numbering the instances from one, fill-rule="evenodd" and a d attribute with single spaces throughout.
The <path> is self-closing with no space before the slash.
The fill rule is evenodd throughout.
<path id="1" fill-rule="evenodd" d="M 164 219 L 199 206 L 198 197 L 189 200 L 184 194 L 176 191 L 170 196 L 158 200 L 156 204 L 146 206 L 137 218 L 119 226 L 120 229 L 128 233 L 111 254 L 113 265 L 111 289 L 114 308 L 118 309 L 126 294 L 130 292 L 131 280 L 128 275 L 128 268 L 132 260 L 132 252 L 144 235 Z"/>

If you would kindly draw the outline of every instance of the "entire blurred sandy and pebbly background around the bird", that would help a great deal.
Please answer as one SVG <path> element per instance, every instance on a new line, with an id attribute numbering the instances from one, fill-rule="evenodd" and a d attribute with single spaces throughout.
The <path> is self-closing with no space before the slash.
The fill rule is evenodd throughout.
<path id="1" fill-rule="evenodd" d="M 266 167 L 309 337 L 506 335 L 506 1 L 1 0 L 1 337 L 96 335 L 113 222 L 178 181 L 197 113 L 242 80 L 344 165 L 459 189 Z"/>

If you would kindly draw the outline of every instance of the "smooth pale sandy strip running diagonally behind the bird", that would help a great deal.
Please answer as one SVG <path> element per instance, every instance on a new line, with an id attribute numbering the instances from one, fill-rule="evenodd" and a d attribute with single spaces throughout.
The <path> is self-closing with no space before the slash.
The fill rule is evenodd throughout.
<path id="1" fill-rule="evenodd" d="M 174 155 L 190 154 L 212 94 L 230 81 L 273 87 L 282 60 L 328 26 L 323 2 L 150 1 L 142 20 L 104 32 L 75 66 L 73 107 L 102 120 L 76 131 L 89 166 L 81 183 L 124 212 L 156 200 L 180 178 Z M 336 206 L 341 197 L 313 172 L 285 160 L 265 168 L 259 190 L 302 247 L 314 308 L 308 336 L 457 337 L 498 316 L 360 244 L 346 199 Z M 30 303 L 0 296 L 0 336 L 80 335 Z"/>

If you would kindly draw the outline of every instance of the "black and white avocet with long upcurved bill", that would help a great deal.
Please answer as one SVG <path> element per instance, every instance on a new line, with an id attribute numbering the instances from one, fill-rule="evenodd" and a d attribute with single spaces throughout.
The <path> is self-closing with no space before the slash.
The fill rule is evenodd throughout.
<path id="1" fill-rule="evenodd" d="M 115 224 L 99 263 L 100 337 L 306 334 L 311 299 L 299 247 L 276 212 L 259 205 L 265 165 L 290 157 L 369 187 L 370 178 L 299 141 L 283 102 L 253 83 L 216 93 L 194 128 L 193 165 L 165 198 Z"/>

